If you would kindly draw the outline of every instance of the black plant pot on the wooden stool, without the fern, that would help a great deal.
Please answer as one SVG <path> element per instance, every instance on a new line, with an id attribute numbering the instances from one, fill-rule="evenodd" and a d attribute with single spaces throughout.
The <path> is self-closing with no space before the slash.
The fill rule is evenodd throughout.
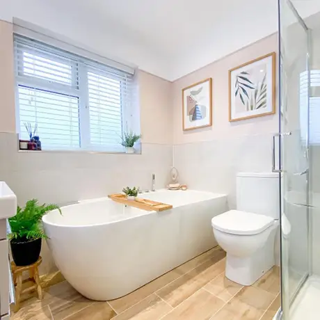
<path id="1" fill-rule="evenodd" d="M 40 256 L 42 239 L 12 239 L 10 241 L 13 261 L 17 266 L 34 264 Z"/>

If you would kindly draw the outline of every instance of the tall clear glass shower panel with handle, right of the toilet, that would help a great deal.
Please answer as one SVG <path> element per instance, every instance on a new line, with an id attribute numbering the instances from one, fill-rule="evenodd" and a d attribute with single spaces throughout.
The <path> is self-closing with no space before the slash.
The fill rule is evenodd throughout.
<path id="1" fill-rule="evenodd" d="M 280 0 L 282 319 L 309 275 L 309 45 L 305 23 Z"/>

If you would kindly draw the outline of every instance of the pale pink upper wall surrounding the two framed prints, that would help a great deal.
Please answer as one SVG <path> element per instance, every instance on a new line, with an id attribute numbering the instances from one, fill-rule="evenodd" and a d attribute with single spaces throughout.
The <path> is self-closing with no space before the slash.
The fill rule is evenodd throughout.
<path id="1" fill-rule="evenodd" d="M 278 51 L 278 35 L 271 35 L 175 81 L 173 83 L 173 143 L 193 143 L 227 136 L 277 131 L 278 115 L 232 123 L 228 120 L 228 70 L 273 51 Z M 182 131 L 182 88 L 209 77 L 213 79 L 213 125 L 203 129 Z"/>

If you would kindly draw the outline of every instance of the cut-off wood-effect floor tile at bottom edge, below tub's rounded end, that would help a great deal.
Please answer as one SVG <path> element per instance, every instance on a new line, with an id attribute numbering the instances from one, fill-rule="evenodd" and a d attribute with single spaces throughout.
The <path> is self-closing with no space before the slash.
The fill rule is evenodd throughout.
<path id="1" fill-rule="evenodd" d="M 117 314 L 106 302 L 95 302 L 65 320 L 110 320 Z"/>

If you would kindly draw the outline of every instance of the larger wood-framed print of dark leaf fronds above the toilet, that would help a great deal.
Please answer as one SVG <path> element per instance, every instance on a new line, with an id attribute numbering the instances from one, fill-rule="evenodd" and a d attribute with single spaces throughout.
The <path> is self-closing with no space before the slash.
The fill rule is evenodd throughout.
<path id="1" fill-rule="evenodd" d="M 229 70 L 229 121 L 275 113 L 275 53 Z"/>

